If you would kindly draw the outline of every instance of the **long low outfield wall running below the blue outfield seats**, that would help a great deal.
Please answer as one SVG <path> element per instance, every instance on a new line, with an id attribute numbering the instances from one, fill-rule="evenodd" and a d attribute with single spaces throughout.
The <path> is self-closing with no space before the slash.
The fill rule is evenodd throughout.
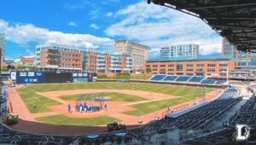
<path id="1" fill-rule="evenodd" d="M 97 79 L 97 82 L 118 82 L 117 79 Z M 119 81 L 120 82 L 120 81 Z M 159 81 L 148 81 L 148 80 L 135 80 L 130 79 L 130 83 L 147 83 L 147 84 L 173 84 L 173 85 L 185 85 L 185 86 L 192 86 L 192 87 L 203 87 L 206 88 L 216 88 L 216 89 L 222 89 L 220 85 L 215 84 L 193 84 L 188 82 L 159 82 Z M 127 83 L 127 82 L 124 82 Z"/>

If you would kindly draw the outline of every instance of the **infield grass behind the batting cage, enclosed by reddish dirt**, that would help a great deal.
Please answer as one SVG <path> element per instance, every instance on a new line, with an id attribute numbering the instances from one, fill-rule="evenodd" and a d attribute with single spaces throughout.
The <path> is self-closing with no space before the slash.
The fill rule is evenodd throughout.
<path id="1" fill-rule="evenodd" d="M 79 94 L 74 96 L 61 96 L 60 98 L 67 101 L 76 101 L 79 96 L 86 96 L 82 97 L 83 99 L 81 101 L 91 101 L 90 95 L 86 94 Z M 95 96 L 108 96 L 108 102 L 141 102 L 145 101 L 146 99 L 138 96 L 132 96 L 127 94 L 121 94 L 121 93 L 115 93 L 115 92 L 103 92 L 103 93 L 96 93 Z"/>

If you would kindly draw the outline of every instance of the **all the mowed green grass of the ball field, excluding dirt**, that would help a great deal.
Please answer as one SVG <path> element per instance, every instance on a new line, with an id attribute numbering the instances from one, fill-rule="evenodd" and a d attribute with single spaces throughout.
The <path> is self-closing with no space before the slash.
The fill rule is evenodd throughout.
<path id="1" fill-rule="evenodd" d="M 143 114 L 152 113 L 166 107 L 172 107 L 183 102 L 189 102 L 196 97 L 202 96 L 203 88 L 201 87 L 188 87 L 188 86 L 175 86 L 166 84 L 135 84 L 135 83 L 84 83 L 84 84 L 33 84 L 27 85 L 25 88 L 18 90 L 23 102 L 31 113 L 45 113 L 49 112 L 48 106 L 57 105 L 55 102 L 39 96 L 36 92 L 46 92 L 55 90 L 82 90 L 82 89 L 96 89 L 96 90 L 144 90 L 149 92 L 161 93 L 171 96 L 181 96 L 167 101 L 145 102 L 131 107 L 136 108 L 134 111 L 125 112 L 125 114 L 133 116 L 141 116 Z M 212 89 L 206 89 L 209 92 Z M 104 96 L 109 96 L 108 101 L 115 102 L 139 102 L 145 99 L 138 96 L 125 95 L 120 93 L 103 93 Z M 64 100 L 76 100 L 77 96 L 62 96 Z M 32 105 L 36 104 L 37 108 L 32 109 Z M 62 115 L 55 115 L 49 117 L 38 118 L 38 121 L 52 124 L 52 125 L 106 125 L 112 123 L 115 119 L 104 116 L 101 118 L 93 119 L 69 119 Z"/>

